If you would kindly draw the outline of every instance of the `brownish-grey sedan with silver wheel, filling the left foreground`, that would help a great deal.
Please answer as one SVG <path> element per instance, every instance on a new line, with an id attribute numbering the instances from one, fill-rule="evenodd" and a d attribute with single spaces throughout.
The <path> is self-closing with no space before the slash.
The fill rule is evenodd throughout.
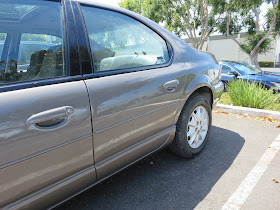
<path id="1" fill-rule="evenodd" d="M 213 55 L 91 1 L 0 8 L 0 208 L 51 207 L 163 147 L 204 148 L 223 90 Z M 21 71 L 24 36 L 56 45 Z"/>

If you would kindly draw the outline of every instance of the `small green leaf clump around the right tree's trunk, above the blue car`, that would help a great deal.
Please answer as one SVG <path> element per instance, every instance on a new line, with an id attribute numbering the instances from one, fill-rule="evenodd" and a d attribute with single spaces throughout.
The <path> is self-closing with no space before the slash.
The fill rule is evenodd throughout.
<path id="1" fill-rule="evenodd" d="M 248 54 L 252 52 L 258 42 L 266 35 L 266 33 L 261 34 L 248 34 L 245 38 L 245 41 L 241 44 L 242 50 Z M 258 49 L 258 53 L 266 53 L 271 50 L 272 39 L 268 38 L 263 41 Z"/>

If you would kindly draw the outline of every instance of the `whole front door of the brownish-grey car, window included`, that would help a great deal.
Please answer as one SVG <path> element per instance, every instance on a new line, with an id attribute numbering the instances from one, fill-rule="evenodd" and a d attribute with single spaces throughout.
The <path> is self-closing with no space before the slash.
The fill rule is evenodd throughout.
<path id="1" fill-rule="evenodd" d="M 55 183 L 85 170 L 92 171 L 90 181 L 96 177 L 88 93 L 82 77 L 74 73 L 79 69 L 73 57 L 76 37 L 69 36 L 72 26 L 62 21 L 62 5 L 0 3 L 5 8 L 0 12 L 0 37 L 5 42 L 0 69 L 0 207 L 26 196 L 32 200 L 33 193 L 38 198 L 57 189 Z M 19 53 L 27 41 L 24 53 Z M 33 48 L 32 42 L 38 41 L 49 48 Z M 69 192 L 52 197 L 48 205 Z"/>

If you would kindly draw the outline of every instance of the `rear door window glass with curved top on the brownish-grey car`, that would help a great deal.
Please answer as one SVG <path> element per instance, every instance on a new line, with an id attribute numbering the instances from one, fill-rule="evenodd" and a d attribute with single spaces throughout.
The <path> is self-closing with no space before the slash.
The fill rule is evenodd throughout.
<path id="1" fill-rule="evenodd" d="M 82 6 L 82 11 L 96 72 L 169 61 L 165 40 L 142 23 L 108 10 Z"/>

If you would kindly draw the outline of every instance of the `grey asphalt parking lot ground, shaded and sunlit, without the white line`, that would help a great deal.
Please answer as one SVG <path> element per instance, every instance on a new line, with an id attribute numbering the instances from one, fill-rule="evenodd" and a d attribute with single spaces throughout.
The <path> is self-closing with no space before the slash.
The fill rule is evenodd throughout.
<path id="1" fill-rule="evenodd" d="M 204 151 L 186 160 L 159 151 L 56 209 L 221 209 L 280 133 L 277 123 L 213 112 Z M 279 209 L 280 154 L 242 209 Z M 242 195 L 240 195 L 242 196 Z"/>

